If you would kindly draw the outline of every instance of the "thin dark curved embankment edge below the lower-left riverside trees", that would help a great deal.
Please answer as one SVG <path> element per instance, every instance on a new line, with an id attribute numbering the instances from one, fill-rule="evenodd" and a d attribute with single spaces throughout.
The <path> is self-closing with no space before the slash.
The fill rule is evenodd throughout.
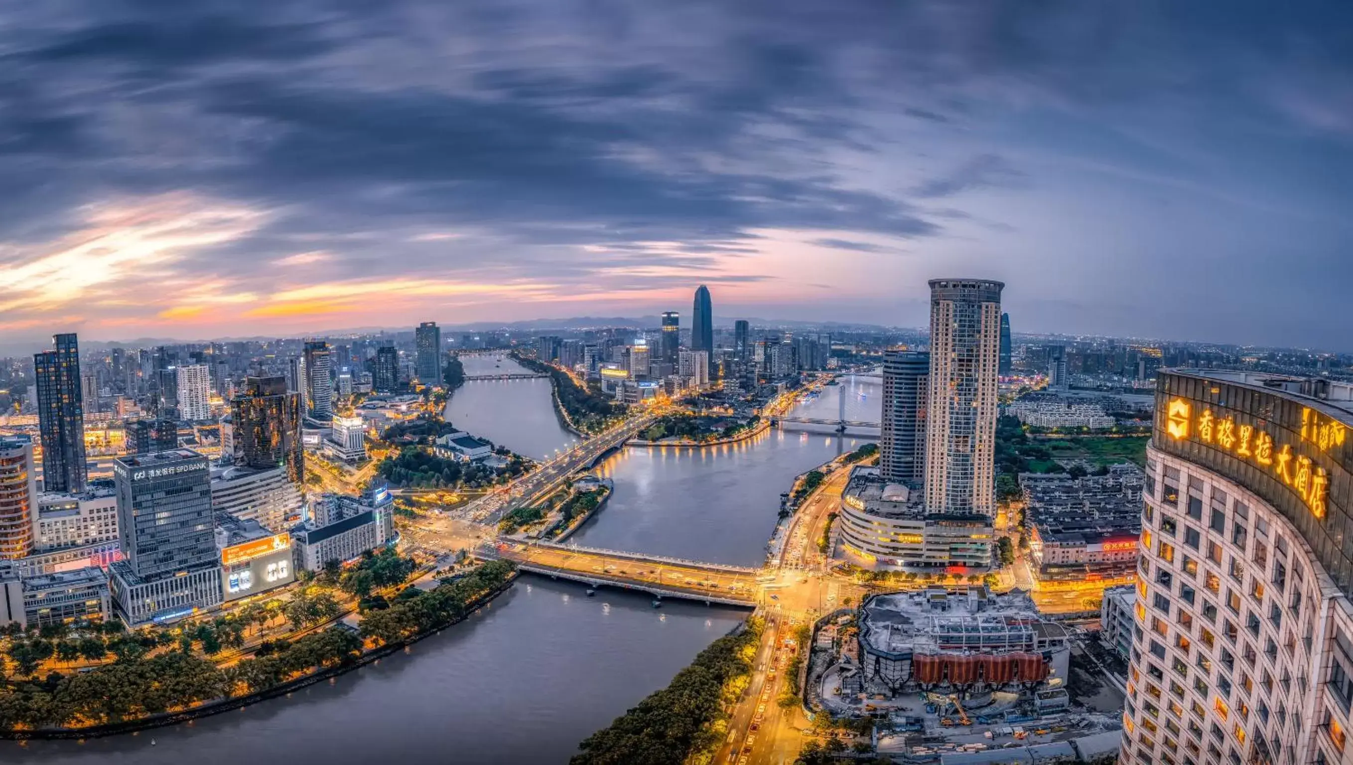
<path id="1" fill-rule="evenodd" d="M 423 639 L 426 639 L 426 638 L 429 638 L 432 635 L 437 635 L 442 630 L 453 627 L 453 626 L 464 621 L 469 616 L 478 613 L 479 609 L 482 609 L 483 607 L 488 605 L 498 596 L 501 596 L 505 592 L 507 592 L 509 589 L 511 589 L 511 586 L 517 581 L 518 575 L 520 575 L 518 571 L 515 571 L 515 570 L 510 571 L 506 575 L 506 578 L 505 578 L 505 581 L 502 584 L 497 585 L 494 589 L 491 589 L 491 590 L 483 593 L 482 596 L 476 597 L 471 603 L 467 603 L 465 607 L 464 607 L 464 612 L 460 616 L 457 616 L 456 619 L 453 619 L 452 621 L 446 623 L 446 624 L 438 626 L 436 628 L 426 630 L 426 631 L 419 632 L 417 635 L 410 635 L 410 636 L 399 639 L 399 640 L 386 642 L 386 643 L 383 643 L 383 644 L 380 644 L 377 647 L 369 649 L 369 650 L 363 650 L 350 662 L 340 662 L 340 663 L 337 663 L 334 666 L 319 668 L 315 672 L 304 674 L 303 677 L 298 677 L 298 678 L 294 678 L 294 680 L 277 684 L 277 685 L 272 685 L 269 688 L 264 688 L 264 689 L 260 689 L 260 691 L 256 691 L 256 692 L 252 692 L 252 693 L 246 693 L 246 695 L 242 695 L 242 696 L 221 697 L 221 699 L 204 701 L 202 704 L 198 704 L 198 705 L 187 708 L 187 709 L 180 709 L 180 711 L 175 711 L 175 712 L 161 712 L 161 714 L 156 714 L 156 715 L 146 715 L 146 716 L 142 716 L 142 718 L 137 718 L 137 719 L 131 719 L 131 720 L 122 720 L 122 722 L 116 722 L 116 723 L 100 723 L 100 724 L 84 726 L 84 727 L 34 728 L 34 730 L 5 728 L 5 730 L 0 730 L 0 739 L 20 741 L 20 742 L 22 741 L 74 741 L 74 739 L 87 739 L 87 738 L 104 738 L 104 737 L 120 735 L 120 734 L 129 734 L 129 733 L 134 734 L 134 733 L 143 731 L 143 730 L 150 730 L 150 728 L 157 728 L 157 727 L 176 726 L 179 723 L 192 722 L 192 720 L 196 720 L 196 719 L 200 719 L 200 718 L 208 718 L 208 716 L 219 715 L 219 714 L 223 714 L 223 712 L 231 712 L 231 711 L 235 711 L 235 709 L 242 709 L 242 708 L 249 707 L 252 704 L 257 704 L 257 703 L 261 703 L 261 701 L 265 701 L 265 700 L 269 700 L 269 699 L 277 699 L 280 696 L 290 696 L 291 693 L 294 693 L 296 691 L 300 691 L 303 688 L 307 688 L 310 685 L 314 685 L 317 682 L 321 682 L 321 681 L 325 681 L 325 680 L 333 680 L 333 678 L 338 677 L 340 674 L 345 674 L 345 673 L 352 672 L 354 669 L 359 669 L 359 668 L 363 668 L 363 666 L 379 662 L 382 658 L 386 658 L 386 657 L 388 657 L 388 655 L 391 655 L 391 654 L 394 654 L 396 651 L 405 650 L 409 646 L 413 646 L 414 643 L 417 643 L 419 640 L 423 640 Z M 329 630 L 348 630 L 348 628 L 349 627 L 344 627 L 341 623 L 336 623 L 336 626 L 329 627 Z"/>

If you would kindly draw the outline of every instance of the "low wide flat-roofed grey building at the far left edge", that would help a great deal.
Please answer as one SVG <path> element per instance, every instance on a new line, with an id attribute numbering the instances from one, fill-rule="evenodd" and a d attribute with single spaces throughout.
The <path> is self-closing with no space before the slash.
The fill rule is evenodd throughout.
<path id="1" fill-rule="evenodd" d="M 104 621 L 110 612 L 108 575 L 97 566 L 32 575 L 0 567 L 0 627 Z"/>

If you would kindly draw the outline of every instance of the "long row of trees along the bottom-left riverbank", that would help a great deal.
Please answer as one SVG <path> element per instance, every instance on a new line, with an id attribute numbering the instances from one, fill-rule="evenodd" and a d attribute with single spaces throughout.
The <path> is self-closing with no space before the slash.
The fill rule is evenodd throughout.
<path id="1" fill-rule="evenodd" d="M 226 669 L 181 650 L 119 658 L 91 672 L 11 684 L 0 692 L 0 727 L 84 727 L 181 711 L 352 662 L 360 651 L 356 635 L 330 628 Z"/>

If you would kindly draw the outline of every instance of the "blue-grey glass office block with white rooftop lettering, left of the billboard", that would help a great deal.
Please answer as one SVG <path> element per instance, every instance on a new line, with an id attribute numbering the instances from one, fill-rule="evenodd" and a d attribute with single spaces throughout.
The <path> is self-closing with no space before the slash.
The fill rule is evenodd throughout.
<path id="1" fill-rule="evenodd" d="M 164 623 L 221 605 L 221 558 L 207 458 L 192 450 L 112 463 L 123 561 L 110 566 L 129 626 Z"/>

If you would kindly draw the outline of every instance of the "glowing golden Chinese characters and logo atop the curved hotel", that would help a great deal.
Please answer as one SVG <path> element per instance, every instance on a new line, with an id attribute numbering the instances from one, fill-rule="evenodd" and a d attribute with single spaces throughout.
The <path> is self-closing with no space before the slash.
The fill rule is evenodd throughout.
<path id="1" fill-rule="evenodd" d="M 1231 456 L 1252 462 L 1295 491 L 1311 513 L 1323 519 L 1330 494 L 1330 475 L 1323 467 L 1298 454 L 1292 444 L 1277 443 L 1268 431 L 1237 422 L 1234 417 L 1220 417 L 1210 408 L 1172 398 L 1165 412 L 1165 432 L 1176 441 L 1193 440 L 1222 450 Z M 1348 427 L 1310 408 L 1302 409 L 1302 443 L 1308 448 L 1327 452 L 1344 445 Z"/>

